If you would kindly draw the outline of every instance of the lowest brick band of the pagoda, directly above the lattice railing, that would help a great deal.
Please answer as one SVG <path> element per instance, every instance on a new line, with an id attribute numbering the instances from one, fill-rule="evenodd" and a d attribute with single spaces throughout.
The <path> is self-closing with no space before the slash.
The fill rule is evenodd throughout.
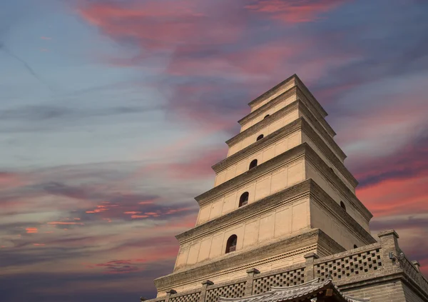
<path id="1" fill-rule="evenodd" d="M 158 297 L 173 288 L 175 291 L 190 291 L 200 287 L 203 281 L 222 283 L 230 279 L 245 278 L 248 268 L 257 267 L 272 271 L 296 263 L 304 263 L 307 253 L 328 256 L 345 251 L 330 236 L 318 228 L 309 228 L 287 238 L 267 242 L 250 251 L 236 251 L 217 261 L 197 263 L 170 275 L 157 278 L 154 282 Z"/>

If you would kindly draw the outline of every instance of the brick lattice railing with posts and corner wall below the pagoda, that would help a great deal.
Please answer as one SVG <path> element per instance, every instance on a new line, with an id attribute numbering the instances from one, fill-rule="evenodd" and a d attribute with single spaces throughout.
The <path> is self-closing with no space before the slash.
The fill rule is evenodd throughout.
<path id="1" fill-rule="evenodd" d="M 305 263 L 297 263 L 275 271 L 260 272 L 257 268 L 250 268 L 247 270 L 246 278 L 219 284 L 207 280 L 200 288 L 181 293 L 170 288 L 166 291 L 166 296 L 147 301 L 216 302 L 219 296 L 227 298 L 251 296 L 265 293 L 271 286 L 292 286 L 314 278 L 325 279 L 329 275 L 347 295 L 364 296 L 370 298 L 371 302 L 428 301 L 428 280 L 419 271 L 419 263 L 409 261 L 402 253 L 398 246 L 397 233 L 394 230 L 383 231 L 378 237 L 377 243 L 322 258 L 315 253 L 308 253 L 305 255 Z M 389 253 L 395 257 L 390 259 Z M 393 289 L 374 292 L 374 286 Z M 417 300 L 404 296 L 404 292 L 407 293 L 408 290 L 412 291 Z M 141 298 L 141 301 L 146 299 Z"/>

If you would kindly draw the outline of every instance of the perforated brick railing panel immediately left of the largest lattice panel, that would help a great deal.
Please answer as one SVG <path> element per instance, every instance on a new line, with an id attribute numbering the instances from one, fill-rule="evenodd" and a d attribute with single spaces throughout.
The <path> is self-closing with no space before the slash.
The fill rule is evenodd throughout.
<path id="1" fill-rule="evenodd" d="M 253 294 L 265 293 L 272 286 L 293 286 L 305 282 L 305 268 L 275 273 L 270 276 L 255 278 L 253 281 Z"/>

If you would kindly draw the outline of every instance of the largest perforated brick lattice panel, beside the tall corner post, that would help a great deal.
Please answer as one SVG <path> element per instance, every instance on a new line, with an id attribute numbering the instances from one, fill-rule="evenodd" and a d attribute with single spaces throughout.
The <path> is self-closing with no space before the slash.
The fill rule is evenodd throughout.
<path id="1" fill-rule="evenodd" d="M 377 271 L 382 266 L 380 248 L 361 251 L 350 256 L 343 256 L 314 266 L 315 277 L 326 278 L 329 274 L 333 279 Z"/>

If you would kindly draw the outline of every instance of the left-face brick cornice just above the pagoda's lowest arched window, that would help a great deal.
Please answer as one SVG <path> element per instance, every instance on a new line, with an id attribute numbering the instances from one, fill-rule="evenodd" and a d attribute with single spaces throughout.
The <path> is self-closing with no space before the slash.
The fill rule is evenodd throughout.
<path id="1" fill-rule="evenodd" d="M 223 216 L 195 226 L 195 228 L 190 228 L 190 230 L 178 234 L 175 238 L 177 238 L 180 244 L 183 244 L 186 241 L 194 240 L 196 237 L 205 236 L 207 233 L 212 233 L 226 226 L 230 226 L 232 223 L 248 220 L 251 216 L 259 216 L 260 213 L 271 211 L 273 206 L 277 207 L 283 203 L 309 196 L 312 182 L 312 179 L 308 179 L 301 183 L 297 183 L 294 186 L 290 186 L 258 201 L 249 203 L 247 206 L 242 206 Z"/>

